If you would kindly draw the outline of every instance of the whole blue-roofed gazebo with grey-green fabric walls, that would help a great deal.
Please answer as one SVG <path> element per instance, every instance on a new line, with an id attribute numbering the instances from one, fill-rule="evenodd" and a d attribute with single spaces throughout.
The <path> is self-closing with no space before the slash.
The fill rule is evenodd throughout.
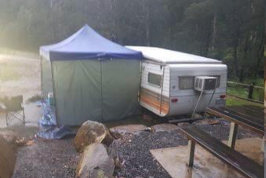
<path id="1" fill-rule="evenodd" d="M 40 56 L 42 96 L 53 93 L 58 125 L 137 114 L 140 52 L 85 25 L 64 41 L 41 46 Z"/>

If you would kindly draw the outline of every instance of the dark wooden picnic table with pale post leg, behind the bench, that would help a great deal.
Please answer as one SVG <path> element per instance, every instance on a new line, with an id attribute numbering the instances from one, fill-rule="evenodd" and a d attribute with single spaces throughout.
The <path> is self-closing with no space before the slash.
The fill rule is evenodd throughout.
<path id="1" fill-rule="evenodd" d="M 255 106 L 232 106 L 207 108 L 207 113 L 222 117 L 231 122 L 228 146 L 235 148 L 235 140 L 238 125 L 251 129 L 264 136 L 264 112 L 263 108 Z M 264 142 L 262 150 L 264 150 Z"/>

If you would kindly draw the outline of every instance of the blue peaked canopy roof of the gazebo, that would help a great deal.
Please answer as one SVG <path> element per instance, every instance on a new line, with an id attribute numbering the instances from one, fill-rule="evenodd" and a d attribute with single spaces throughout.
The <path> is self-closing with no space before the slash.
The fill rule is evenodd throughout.
<path id="1" fill-rule="evenodd" d="M 142 59 L 141 52 L 130 50 L 102 37 L 88 25 L 64 41 L 41 46 L 40 54 L 50 61 L 98 58 Z"/>

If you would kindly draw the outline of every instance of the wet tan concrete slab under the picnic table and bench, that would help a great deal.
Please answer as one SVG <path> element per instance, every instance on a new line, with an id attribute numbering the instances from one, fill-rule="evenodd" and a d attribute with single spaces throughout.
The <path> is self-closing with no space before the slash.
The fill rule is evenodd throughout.
<path id="1" fill-rule="evenodd" d="M 227 143 L 227 141 L 223 141 Z M 263 163 L 263 153 L 260 138 L 246 138 L 236 141 L 235 149 L 257 163 Z M 150 150 L 156 160 L 173 178 L 243 178 L 238 172 L 214 157 L 208 151 L 196 144 L 194 166 L 189 168 L 188 147 L 178 146 Z"/>

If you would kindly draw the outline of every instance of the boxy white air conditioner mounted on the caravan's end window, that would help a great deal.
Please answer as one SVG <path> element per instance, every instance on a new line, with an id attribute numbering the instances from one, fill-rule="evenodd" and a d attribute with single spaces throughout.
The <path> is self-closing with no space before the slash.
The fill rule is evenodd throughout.
<path id="1" fill-rule="evenodd" d="M 197 91 L 213 90 L 216 86 L 216 77 L 197 76 L 194 80 L 194 89 Z"/>

